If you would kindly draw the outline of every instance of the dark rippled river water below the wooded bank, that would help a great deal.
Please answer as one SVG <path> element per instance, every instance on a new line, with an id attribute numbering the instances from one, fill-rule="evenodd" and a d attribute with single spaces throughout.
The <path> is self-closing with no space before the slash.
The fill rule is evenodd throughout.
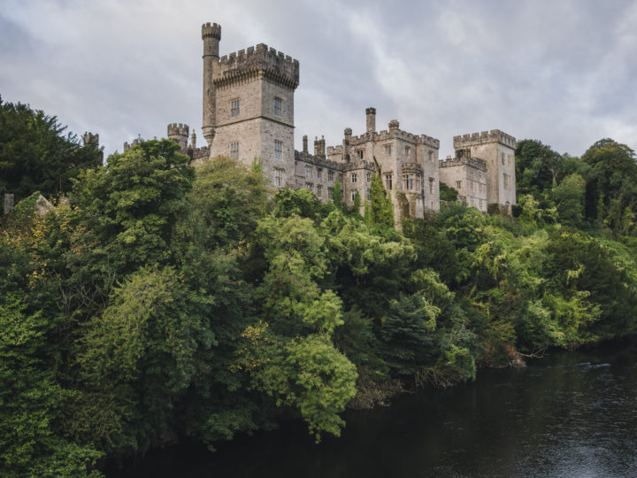
<path id="1" fill-rule="evenodd" d="M 637 476 L 637 341 L 552 352 L 524 369 L 348 412 L 340 439 L 303 424 L 150 453 L 113 476 Z"/>

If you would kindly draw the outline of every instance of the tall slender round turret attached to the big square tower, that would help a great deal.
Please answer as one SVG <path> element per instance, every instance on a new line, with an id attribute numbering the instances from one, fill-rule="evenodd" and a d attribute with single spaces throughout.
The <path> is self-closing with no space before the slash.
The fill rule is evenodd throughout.
<path id="1" fill-rule="evenodd" d="M 221 26 L 216 23 L 202 25 L 203 40 L 203 137 L 211 148 L 215 136 L 216 91 L 213 84 L 219 62 Z"/>

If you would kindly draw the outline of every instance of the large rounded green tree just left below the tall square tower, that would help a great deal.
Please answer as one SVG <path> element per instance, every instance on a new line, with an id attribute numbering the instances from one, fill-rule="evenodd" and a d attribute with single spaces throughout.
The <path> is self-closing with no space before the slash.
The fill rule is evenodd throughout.
<path id="1" fill-rule="evenodd" d="M 173 259 L 174 227 L 195 178 L 179 149 L 170 140 L 142 142 L 80 174 L 70 196 L 74 224 L 86 230 L 78 266 L 127 274 Z"/>

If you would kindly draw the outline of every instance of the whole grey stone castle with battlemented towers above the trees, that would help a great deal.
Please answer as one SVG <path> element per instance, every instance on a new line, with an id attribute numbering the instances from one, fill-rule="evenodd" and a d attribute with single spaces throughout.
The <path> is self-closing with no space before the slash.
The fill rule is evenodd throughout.
<path id="1" fill-rule="evenodd" d="M 299 62 L 263 43 L 219 57 L 221 27 L 202 26 L 203 137 L 196 147 L 193 131 L 182 123 L 168 125 L 167 135 L 180 143 L 194 162 L 229 156 L 251 165 L 261 161 L 275 189 L 306 188 L 326 202 L 339 181 L 342 202 L 349 207 L 370 196 L 372 175 L 380 174 L 395 209 L 395 220 L 423 218 L 440 210 L 440 181 L 457 189 L 459 200 L 482 212 L 510 214 L 516 202 L 516 140 L 497 129 L 453 138 L 455 158 L 439 159 L 440 141 L 413 135 L 391 120 L 376 130 L 376 110 L 365 110 L 365 132 L 344 128 L 342 143 L 326 148 L 315 136 L 314 150 L 294 148 L 294 93 Z M 125 143 L 125 150 L 130 146 Z"/>

